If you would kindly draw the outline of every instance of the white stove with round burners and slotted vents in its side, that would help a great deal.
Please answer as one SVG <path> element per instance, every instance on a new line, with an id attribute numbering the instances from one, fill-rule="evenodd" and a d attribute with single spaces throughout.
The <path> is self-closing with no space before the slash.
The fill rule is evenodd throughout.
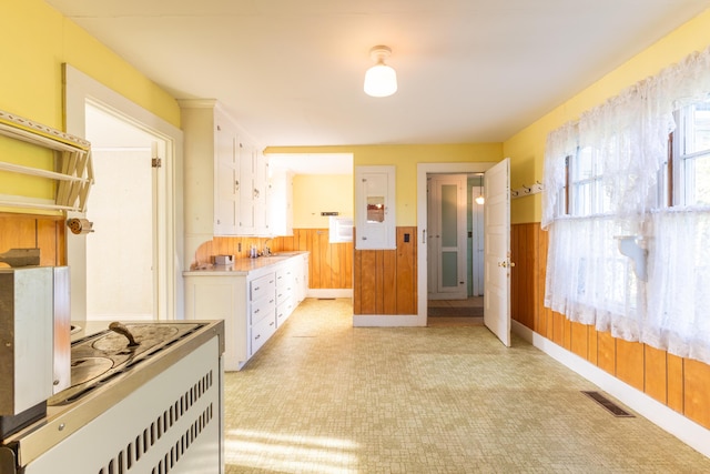
<path id="1" fill-rule="evenodd" d="M 222 321 L 126 323 L 72 343 L 72 386 L 4 438 L 0 472 L 224 472 Z"/>

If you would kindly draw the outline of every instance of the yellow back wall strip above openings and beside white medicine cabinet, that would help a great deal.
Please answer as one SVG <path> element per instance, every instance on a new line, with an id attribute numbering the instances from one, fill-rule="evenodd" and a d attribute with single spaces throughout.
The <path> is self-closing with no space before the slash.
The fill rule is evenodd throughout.
<path id="1" fill-rule="evenodd" d="M 394 164 L 396 173 L 397 226 L 417 225 L 417 163 L 497 162 L 501 143 L 273 147 L 267 153 L 353 153 L 353 165 Z M 296 203 L 294 202 L 294 208 Z M 295 223 L 294 223 L 295 225 Z"/>

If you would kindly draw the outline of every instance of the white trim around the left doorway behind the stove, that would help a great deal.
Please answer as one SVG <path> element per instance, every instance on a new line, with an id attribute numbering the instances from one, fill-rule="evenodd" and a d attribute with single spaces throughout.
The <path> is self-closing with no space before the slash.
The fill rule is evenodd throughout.
<path id="1" fill-rule="evenodd" d="M 165 180 L 159 188 L 164 219 L 159 225 L 159 285 L 155 299 L 159 320 L 183 319 L 183 205 L 182 205 L 182 131 L 123 95 L 101 84 L 78 69 L 64 64 L 64 113 L 68 133 L 85 135 L 85 107 L 100 104 L 116 118 L 156 137 L 165 144 Z M 91 202 L 91 193 L 89 194 Z M 83 215 L 82 215 L 83 216 Z M 68 234 L 67 260 L 71 268 L 72 320 L 87 316 L 85 235 Z"/>

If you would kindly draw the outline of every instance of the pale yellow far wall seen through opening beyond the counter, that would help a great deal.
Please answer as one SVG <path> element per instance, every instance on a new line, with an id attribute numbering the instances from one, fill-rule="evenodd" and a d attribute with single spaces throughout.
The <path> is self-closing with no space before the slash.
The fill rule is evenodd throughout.
<path id="1" fill-rule="evenodd" d="M 352 174 L 296 174 L 293 178 L 294 229 L 326 229 L 324 211 L 353 216 Z"/>

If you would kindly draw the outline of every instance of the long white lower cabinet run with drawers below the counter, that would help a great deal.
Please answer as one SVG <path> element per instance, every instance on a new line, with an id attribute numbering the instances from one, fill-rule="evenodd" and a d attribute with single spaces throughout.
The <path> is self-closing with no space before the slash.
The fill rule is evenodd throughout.
<path id="1" fill-rule="evenodd" d="M 185 319 L 224 320 L 224 369 L 239 371 L 303 301 L 307 253 L 250 270 L 184 272 Z M 257 262 L 261 263 L 261 262 Z M 306 265 L 305 269 L 303 265 Z"/>

